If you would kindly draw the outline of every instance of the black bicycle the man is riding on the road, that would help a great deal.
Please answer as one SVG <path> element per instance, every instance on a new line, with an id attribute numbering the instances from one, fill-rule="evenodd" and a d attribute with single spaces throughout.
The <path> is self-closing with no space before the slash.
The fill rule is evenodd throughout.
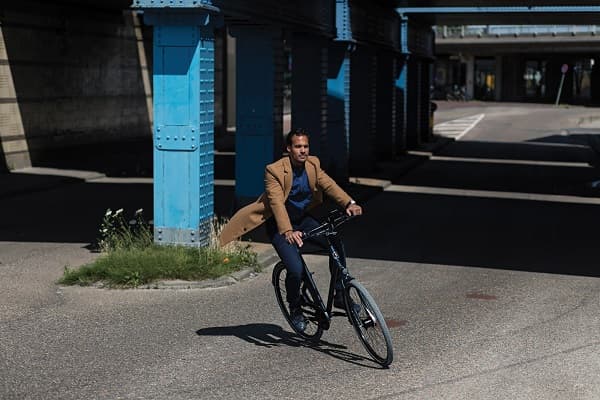
<path id="1" fill-rule="evenodd" d="M 338 238 L 337 228 L 351 218 L 346 213 L 334 210 L 318 227 L 302 234 L 303 240 L 325 236 L 329 254 L 335 263 L 329 283 L 327 305 L 325 305 L 315 284 L 313 274 L 308 269 L 302 255 L 300 255 L 304 266 L 304 279 L 300 286 L 301 310 L 306 319 L 306 329 L 300 331 L 292 324 L 289 306 L 286 301 L 285 278 L 287 272 L 282 261 L 277 263 L 273 269 L 272 283 L 275 296 L 281 312 L 294 332 L 306 340 L 317 343 L 323 331 L 328 330 L 331 325 L 335 282 L 341 274 L 341 289 L 338 290 L 342 290 L 343 293 L 346 316 L 367 352 L 377 363 L 387 367 L 392 363 L 394 355 L 390 331 L 383 314 L 369 292 L 350 275 L 345 265 L 345 257 L 340 257 L 338 250 L 332 243 L 333 240 L 338 240 L 339 251 L 344 251 L 341 239 Z"/>

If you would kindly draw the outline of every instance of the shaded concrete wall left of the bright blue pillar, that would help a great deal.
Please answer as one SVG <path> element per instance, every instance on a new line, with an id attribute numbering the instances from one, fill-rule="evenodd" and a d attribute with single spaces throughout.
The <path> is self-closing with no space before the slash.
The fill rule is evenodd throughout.
<path id="1" fill-rule="evenodd" d="M 128 10 L 17 4 L 0 6 L 0 168 L 150 138 L 150 28 Z"/>

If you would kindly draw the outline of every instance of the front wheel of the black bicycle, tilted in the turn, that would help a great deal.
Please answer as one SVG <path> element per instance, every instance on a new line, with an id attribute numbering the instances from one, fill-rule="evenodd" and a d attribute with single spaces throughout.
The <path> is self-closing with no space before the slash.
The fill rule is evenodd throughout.
<path id="1" fill-rule="evenodd" d="M 360 309 L 355 304 L 360 305 Z M 373 297 L 360 283 L 351 281 L 346 287 L 346 305 L 350 322 L 364 348 L 382 366 L 390 365 L 394 360 L 392 338 Z"/>

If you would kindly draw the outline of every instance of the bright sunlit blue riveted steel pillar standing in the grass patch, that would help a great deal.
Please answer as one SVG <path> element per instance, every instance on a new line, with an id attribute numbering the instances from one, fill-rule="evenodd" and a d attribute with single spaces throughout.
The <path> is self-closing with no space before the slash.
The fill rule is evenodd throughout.
<path id="1" fill-rule="evenodd" d="M 133 4 L 154 26 L 154 239 L 204 245 L 213 216 L 218 9 L 206 2 L 172 8 L 154 3 Z"/>

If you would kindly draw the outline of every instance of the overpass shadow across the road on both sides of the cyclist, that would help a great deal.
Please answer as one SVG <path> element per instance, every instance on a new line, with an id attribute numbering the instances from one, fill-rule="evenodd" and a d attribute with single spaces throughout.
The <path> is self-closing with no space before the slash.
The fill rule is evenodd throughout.
<path id="1" fill-rule="evenodd" d="M 582 146 L 453 142 L 386 191 L 351 187 L 365 215 L 343 228 L 348 256 L 600 276 L 596 159 Z M 0 198 L 0 240 L 93 243 L 107 208 L 153 218 L 150 183 L 68 183 Z M 215 186 L 217 215 L 233 196 Z"/>

